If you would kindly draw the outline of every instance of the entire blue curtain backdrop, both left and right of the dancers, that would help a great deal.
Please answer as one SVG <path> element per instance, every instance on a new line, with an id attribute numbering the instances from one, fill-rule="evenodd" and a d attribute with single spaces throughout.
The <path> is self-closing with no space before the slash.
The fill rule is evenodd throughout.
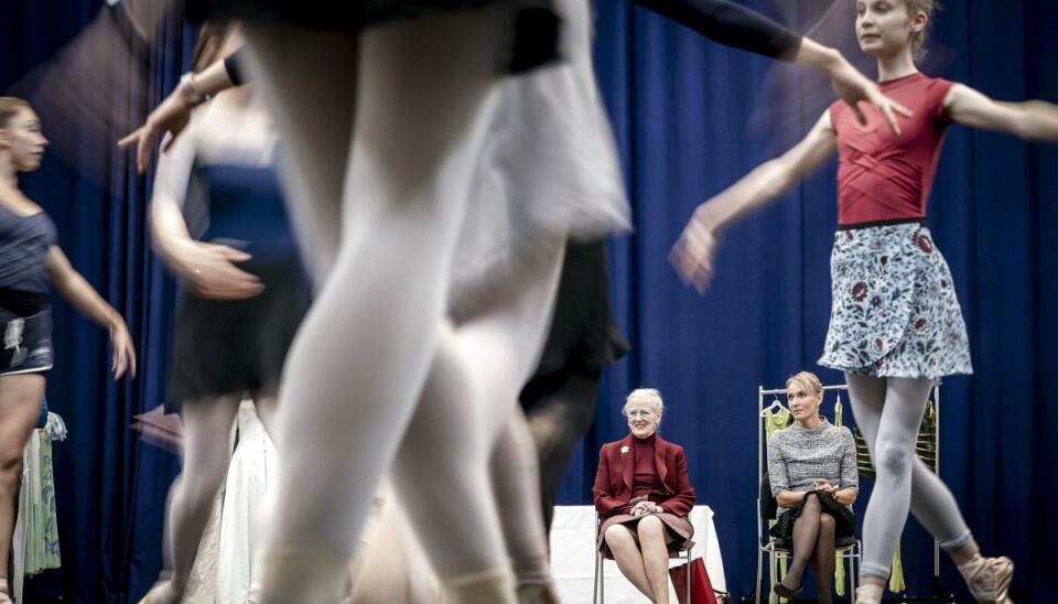
<path id="1" fill-rule="evenodd" d="M 836 2 L 848 6 L 820 35 L 848 44 L 852 1 Z M 817 26 L 832 4 L 746 3 L 799 31 Z M 173 455 L 128 429 L 164 392 L 172 283 L 149 249 L 149 181 L 133 174 L 114 140 L 186 68 L 191 32 L 162 14 L 147 43 L 118 9 L 102 0 L 0 3 L 0 86 L 31 97 L 53 140 L 23 188 L 55 218 L 74 266 L 126 315 L 140 362 L 134 381 L 109 380 L 106 334 L 55 300 L 48 401 L 71 436 L 55 450 L 64 565 L 32 582 L 41 602 L 140 596 L 160 564 L 162 509 L 176 471 Z M 660 388 L 669 405 L 662 433 L 687 447 L 700 500 L 716 513 L 728 589 L 746 594 L 755 567 L 757 387 L 781 387 L 802 368 L 841 381 L 814 363 L 830 308 L 834 166 L 730 229 L 706 296 L 683 288 L 666 255 L 697 203 L 796 142 L 830 93 L 818 76 L 724 48 L 624 0 L 598 0 L 597 12 L 597 72 L 636 222 L 634 236 L 611 246 L 612 292 L 635 347 L 604 380 L 598 421 L 561 500 L 590 503 L 598 447 L 627 430 L 623 396 Z M 1058 101 L 1056 24 L 1058 6 L 1047 0 L 948 0 L 928 73 L 998 99 Z M 930 203 L 976 369 L 944 381 L 941 473 L 985 551 L 1014 558 L 1018 602 L 1051 600 L 1046 527 L 1058 470 L 1047 401 L 1058 387 L 1049 375 L 1058 367 L 1050 346 L 1058 342 L 1058 252 L 1048 235 L 1058 228 L 1056 169 L 1058 148 L 956 127 Z M 824 408 L 832 403 L 828 397 Z M 865 503 L 864 494 L 861 515 Z M 903 543 L 908 592 L 930 592 L 931 540 L 913 520 Z M 944 585 L 965 601 L 954 570 L 947 562 L 942 569 Z"/>

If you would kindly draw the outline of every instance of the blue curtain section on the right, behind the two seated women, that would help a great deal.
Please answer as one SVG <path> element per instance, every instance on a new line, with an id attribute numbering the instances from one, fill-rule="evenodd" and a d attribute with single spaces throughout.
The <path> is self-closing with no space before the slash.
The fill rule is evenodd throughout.
<path id="1" fill-rule="evenodd" d="M 854 3 L 747 1 L 799 31 L 850 44 Z M 822 19 L 822 22 L 821 22 Z M 821 23 L 821 24 L 820 24 Z M 1058 44 L 1046 1 L 948 0 L 937 15 L 929 75 L 1002 100 L 1058 101 Z M 859 63 L 873 74 L 870 61 Z M 688 451 L 699 498 L 716 513 L 728 589 L 753 590 L 757 387 L 781 388 L 816 365 L 830 310 L 835 163 L 784 201 L 728 229 L 708 295 L 685 289 L 666 255 L 694 206 L 799 140 L 832 99 L 827 82 L 730 50 L 627 2 L 598 2 L 596 71 L 613 117 L 636 233 L 611 246 L 612 296 L 633 353 L 605 379 L 597 421 L 561 492 L 586 504 L 598 449 L 627 432 L 631 388 L 661 389 L 661 431 Z M 822 93 L 821 93 L 822 91 Z M 1011 556 L 1015 601 L 1048 602 L 1048 440 L 1058 330 L 1058 148 L 952 128 L 929 218 L 965 311 L 976 374 L 944 380 L 941 474 L 987 553 Z M 831 416 L 834 398 L 824 402 Z M 851 411 L 845 402 L 845 422 Z M 870 481 L 855 508 L 862 517 Z M 909 594 L 932 591 L 932 540 L 911 520 L 903 540 Z M 969 601 L 953 567 L 943 584 Z"/>

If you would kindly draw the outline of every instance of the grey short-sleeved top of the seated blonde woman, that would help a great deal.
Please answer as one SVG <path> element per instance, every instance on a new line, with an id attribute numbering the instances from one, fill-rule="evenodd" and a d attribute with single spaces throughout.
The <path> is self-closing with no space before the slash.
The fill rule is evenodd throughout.
<path id="1" fill-rule="evenodd" d="M 812 490 L 817 478 L 840 488 L 860 492 L 856 443 L 848 428 L 831 425 L 825 418 L 819 428 L 794 423 L 768 440 L 768 476 L 771 494 L 781 490 Z M 852 509 L 852 506 L 845 506 Z M 789 511 L 780 507 L 778 514 Z"/>

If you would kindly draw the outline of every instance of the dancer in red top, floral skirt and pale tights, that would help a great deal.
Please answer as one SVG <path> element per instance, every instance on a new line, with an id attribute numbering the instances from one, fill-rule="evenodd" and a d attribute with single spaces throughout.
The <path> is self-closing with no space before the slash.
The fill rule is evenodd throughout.
<path id="1" fill-rule="evenodd" d="M 915 111 L 894 134 L 866 108 L 864 127 L 840 104 L 811 132 L 698 207 L 672 251 L 681 277 L 704 291 L 717 233 L 777 198 L 835 152 L 839 231 L 831 256 L 833 306 L 820 364 L 845 373 L 856 421 L 877 471 L 863 528 L 861 604 L 879 602 L 889 561 L 914 509 L 979 602 L 1008 602 L 1014 564 L 983 558 L 947 486 L 915 457 L 915 439 L 935 380 L 969 374 L 970 349 L 951 274 L 925 225 L 926 199 L 944 132 L 961 123 L 1023 139 L 1058 141 L 1058 107 L 996 103 L 924 76 L 931 0 L 857 0 L 860 46 L 878 62 L 882 91 Z M 801 582 L 790 573 L 779 595 Z"/>

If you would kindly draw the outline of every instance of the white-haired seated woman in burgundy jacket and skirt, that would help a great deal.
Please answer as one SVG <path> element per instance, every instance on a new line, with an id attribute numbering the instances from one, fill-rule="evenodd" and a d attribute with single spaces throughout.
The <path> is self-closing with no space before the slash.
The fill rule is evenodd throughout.
<path id="1" fill-rule="evenodd" d="M 598 551 L 651 602 L 669 602 L 669 550 L 690 547 L 694 528 L 687 515 L 694 489 L 683 447 L 657 434 L 661 395 L 643 388 L 628 395 L 622 414 L 630 433 L 603 445 L 595 474 Z"/>

